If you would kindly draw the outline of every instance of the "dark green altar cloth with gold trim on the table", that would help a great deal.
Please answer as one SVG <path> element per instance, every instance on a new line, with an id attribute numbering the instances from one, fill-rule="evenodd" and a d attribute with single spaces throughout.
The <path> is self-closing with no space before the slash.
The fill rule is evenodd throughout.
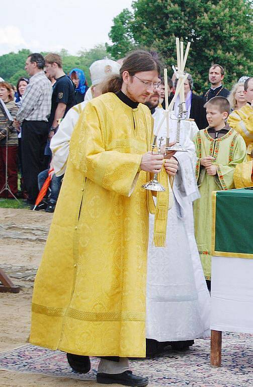
<path id="1" fill-rule="evenodd" d="M 212 255 L 253 259 L 253 190 L 212 193 Z"/>

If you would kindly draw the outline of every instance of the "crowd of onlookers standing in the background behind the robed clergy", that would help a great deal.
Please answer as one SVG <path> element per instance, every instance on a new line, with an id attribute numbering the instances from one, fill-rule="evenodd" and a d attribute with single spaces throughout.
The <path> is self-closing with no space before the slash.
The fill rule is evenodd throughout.
<path id="1" fill-rule="evenodd" d="M 122 60 L 119 60 L 119 62 Z M 99 62 L 99 61 L 98 61 Z M 0 195 L 3 198 L 13 199 L 23 197 L 27 203 L 33 205 L 46 177 L 48 176 L 52 153 L 50 141 L 57 132 L 59 122 L 65 117 L 68 110 L 90 100 L 94 96 L 89 88 L 86 76 L 80 69 L 72 69 L 69 75 L 62 70 L 62 60 L 58 54 L 48 54 L 44 58 L 41 54 L 31 54 L 26 61 L 25 70 L 29 78 L 21 77 L 17 88 L 4 80 L 0 84 L 0 98 L 4 100 L 7 108 L 14 117 L 12 124 L 6 119 L 1 123 L 1 169 L 0 188 L 5 184 L 5 168 L 8 166 L 8 183 L 10 191 L 4 190 Z M 96 62 L 91 66 L 91 73 L 96 72 Z M 105 70 L 104 75 L 110 74 Z M 105 65 L 106 67 L 106 65 Z M 120 64 L 118 63 L 120 68 Z M 243 77 L 242 77 L 243 78 Z M 244 77 L 245 78 L 245 77 Z M 194 81 L 189 74 L 185 81 L 186 118 L 194 119 L 199 130 L 208 126 L 204 104 L 215 96 L 228 97 L 230 109 L 238 110 L 246 105 L 244 83 L 236 83 L 231 93 L 223 86 L 224 69 L 219 64 L 213 64 L 209 70 L 211 84 L 202 96 L 194 93 Z M 175 74 L 168 80 L 169 102 L 172 100 L 177 87 Z M 95 81 L 96 83 L 96 81 Z M 160 104 L 165 108 L 164 82 L 161 77 L 159 90 Z M 97 94 L 95 94 L 96 96 Z M 175 102 L 174 111 L 177 115 L 179 109 L 179 96 Z M 9 133 L 8 144 L 6 140 L 7 128 Z M 8 145 L 8 160 L 5 147 Z M 23 155 L 23 156 L 22 156 Z M 20 190 L 18 190 L 18 171 L 20 172 Z M 51 172 L 53 193 L 46 198 L 36 210 L 53 212 L 59 194 L 61 180 Z M 54 177 L 53 177 L 54 176 Z M 13 195 L 12 195 L 13 194 Z"/>

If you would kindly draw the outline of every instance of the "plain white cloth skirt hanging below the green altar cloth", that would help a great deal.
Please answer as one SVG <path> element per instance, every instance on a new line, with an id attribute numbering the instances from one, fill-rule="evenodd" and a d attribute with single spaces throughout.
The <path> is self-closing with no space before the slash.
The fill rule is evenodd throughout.
<path id="1" fill-rule="evenodd" d="M 212 257 L 210 328 L 253 334 L 253 260 Z"/>

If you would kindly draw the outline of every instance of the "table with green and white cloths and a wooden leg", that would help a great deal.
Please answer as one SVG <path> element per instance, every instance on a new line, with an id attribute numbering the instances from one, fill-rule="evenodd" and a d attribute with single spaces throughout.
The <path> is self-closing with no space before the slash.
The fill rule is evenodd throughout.
<path id="1" fill-rule="evenodd" d="M 211 364 L 220 366 L 222 331 L 253 334 L 253 190 L 212 195 Z"/>

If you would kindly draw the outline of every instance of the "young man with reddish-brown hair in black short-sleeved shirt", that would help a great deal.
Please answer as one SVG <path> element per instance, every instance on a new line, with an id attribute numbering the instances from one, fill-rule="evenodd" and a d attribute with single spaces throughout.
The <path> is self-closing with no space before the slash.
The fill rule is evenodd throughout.
<path id="1" fill-rule="evenodd" d="M 48 120 L 49 139 L 53 137 L 58 128 L 58 120 L 65 117 L 68 110 L 74 106 L 74 85 L 71 79 L 62 70 L 60 55 L 50 53 L 45 56 L 46 72 L 56 79 L 53 85 L 52 108 Z"/>

